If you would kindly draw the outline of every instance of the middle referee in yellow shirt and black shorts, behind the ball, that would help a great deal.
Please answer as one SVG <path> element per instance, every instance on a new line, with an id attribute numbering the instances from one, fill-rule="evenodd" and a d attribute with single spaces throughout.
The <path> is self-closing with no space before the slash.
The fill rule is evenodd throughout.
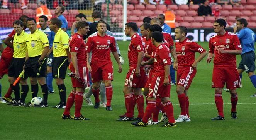
<path id="1" fill-rule="evenodd" d="M 24 70 L 30 78 L 32 98 L 37 97 L 39 82 L 42 88 L 44 101 L 38 107 L 48 107 L 48 87 L 46 85 L 46 55 L 49 51 L 49 41 L 47 35 L 38 30 L 34 18 L 27 19 L 27 27 L 30 30 L 27 40 L 27 54 Z M 25 106 L 31 107 L 31 103 Z"/>

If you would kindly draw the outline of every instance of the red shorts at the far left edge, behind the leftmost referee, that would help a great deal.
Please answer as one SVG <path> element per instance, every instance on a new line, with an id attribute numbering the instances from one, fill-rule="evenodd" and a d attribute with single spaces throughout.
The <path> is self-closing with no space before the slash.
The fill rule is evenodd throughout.
<path id="1" fill-rule="evenodd" d="M 0 60 L 0 78 L 3 75 L 8 74 L 8 67 L 12 61 L 13 52 L 6 52 L 6 49 L 3 50 L 1 60 Z"/>

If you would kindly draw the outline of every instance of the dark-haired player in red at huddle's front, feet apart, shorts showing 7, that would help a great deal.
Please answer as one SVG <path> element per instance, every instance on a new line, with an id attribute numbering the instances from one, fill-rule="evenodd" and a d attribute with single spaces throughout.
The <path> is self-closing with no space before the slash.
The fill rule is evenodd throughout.
<path id="1" fill-rule="evenodd" d="M 171 65 L 171 53 L 169 48 L 163 44 L 163 33 L 159 31 L 153 32 L 151 34 L 151 40 L 153 45 L 157 46 L 157 49 L 154 55 L 153 77 L 149 87 L 147 108 L 142 120 L 133 122 L 131 124 L 135 126 L 147 126 L 148 119 L 151 117 L 151 114 L 156 108 L 156 99 L 161 98 L 168 117 L 168 122 L 166 122 L 166 124 L 163 126 L 176 127 L 173 117 L 173 105 L 169 98 L 171 90 L 171 77 L 169 73 Z"/>

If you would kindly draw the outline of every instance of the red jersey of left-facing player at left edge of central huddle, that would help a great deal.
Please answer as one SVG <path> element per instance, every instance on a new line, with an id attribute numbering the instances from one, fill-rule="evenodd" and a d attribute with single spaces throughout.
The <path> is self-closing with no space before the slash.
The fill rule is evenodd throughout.
<path id="1" fill-rule="evenodd" d="M 131 42 L 128 47 L 129 67 L 136 68 L 138 63 L 138 52 L 144 51 L 145 43 L 139 34 L 134 34 L 131 37 Z"/>

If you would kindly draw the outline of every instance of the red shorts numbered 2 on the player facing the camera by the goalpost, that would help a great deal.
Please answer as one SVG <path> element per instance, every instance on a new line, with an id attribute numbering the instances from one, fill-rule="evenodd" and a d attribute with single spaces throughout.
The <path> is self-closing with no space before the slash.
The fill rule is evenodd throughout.
<path id="1" fill-rule="evenodd" d="M 92 82 L 113 80 L 112 62 L 91 62 Z"/>

